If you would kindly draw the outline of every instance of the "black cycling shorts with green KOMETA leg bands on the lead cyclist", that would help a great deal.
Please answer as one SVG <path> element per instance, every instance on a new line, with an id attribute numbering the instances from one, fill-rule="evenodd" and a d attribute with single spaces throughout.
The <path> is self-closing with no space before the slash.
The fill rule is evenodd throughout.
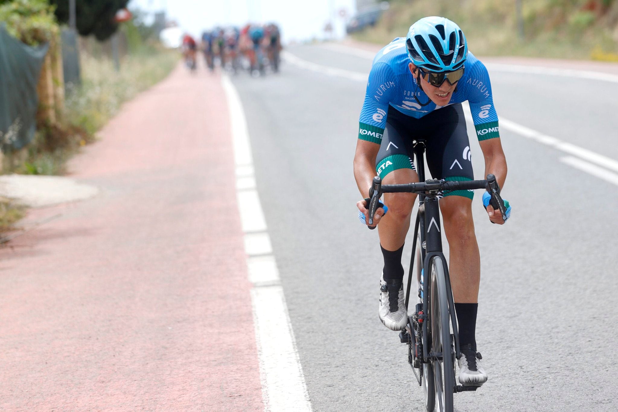
<path id="1" fill-rule="evenodd" d="M 474 180 L 470 143 L 460 103 L 442 107 L 417 119 L 389 107 L 382 143 L 376 158 L 376 171 L 384 176 L 397 169 L 414 166 L 414 139 L 425 140 L 425 158 L 431 177 L 442 180 Z M 403 183 L 403 182 L 400 182 Z M 473 191 L 456 190 L 444 196 L 472 199 Z"/>

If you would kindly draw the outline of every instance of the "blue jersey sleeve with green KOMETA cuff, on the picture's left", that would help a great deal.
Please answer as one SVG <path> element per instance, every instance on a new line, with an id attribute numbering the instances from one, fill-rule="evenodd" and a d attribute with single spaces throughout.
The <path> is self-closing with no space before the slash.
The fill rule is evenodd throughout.
<path id="1" fill-rule="evenodd" d="M 394 93 L 396 81 L 395 73 L 388 64 L 377 62 L 371 67 L 365 102 L 358 120 L 359 139 L 378 145 L 382 143 L 389 101 Z"/>

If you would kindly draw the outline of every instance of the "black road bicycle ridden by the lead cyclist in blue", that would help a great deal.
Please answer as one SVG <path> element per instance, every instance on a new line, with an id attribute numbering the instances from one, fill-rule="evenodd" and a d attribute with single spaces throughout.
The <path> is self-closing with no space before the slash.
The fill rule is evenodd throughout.
<path id="1" fill-rule="evenodd" d="M 418 213 L 414 225 L 412 258 L 405 291 L 405 308 L 408 323 L 399 334 L 401 343 L 408 347 L 408 363 L 425 390 L 425 408 L 428 412 L 436 406 L 441 412 L 452 412 L 453 394 L 476 390 L 475 386 L 463 386 L 455 380 L 455 359 L 462 356 L 457 334 L 455 303 L 449 278 L 446 258 L 442 253 L 442 229 L 438 199 L 454 190 L 485 188 L 491 195 L 491 204 L 506 221 L 506 209 L 493 174 L 486 180 L 464 182 L 425 180 L 425 141 L 413 141 L 420 183 L 383 185 L 376 176 L 370 190 L 369 224 L 378 209 L 383 193 L 417 193 Z M 375 228 L 375 226 L 370 229 Z M 414 261 L 417 266 L 413 269 Z M 417 304 L 410 315 L 408 303 L 412 277 L 417 280 Z"/>

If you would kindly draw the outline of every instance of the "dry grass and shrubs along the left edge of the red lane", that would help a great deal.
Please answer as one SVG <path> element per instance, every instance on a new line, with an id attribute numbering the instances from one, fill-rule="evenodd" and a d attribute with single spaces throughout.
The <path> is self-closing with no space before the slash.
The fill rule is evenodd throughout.
<path id="1" fill-rule="evenodd" d="M 12 36 L 36 46 L 58 38 L 60 27 L 54 11 L 47 0 L 0 0 L 0 23 L 6 24 Z M 153 31 L 134 19 L 119 25 L 126 53 L 117 71 L 111 56 L 99 43 L 101 36 L 109 36 L 115 30 L 95 32 L 81 39 L 81 83 L 67 88 L 64 106 L 54 122 L 37 116 L 36 133 L 30 144 L 17 151 L 4 148 L 2 174 L 63 174 L 67 160 L 80 147 L 96 140 L 96 132 L 123 103 L 163 80 L 179 61 L 176 51 L 164 49 Z M 0 198 L 0 232 L 11 227 L 23 212 L 11 200 Z"/>

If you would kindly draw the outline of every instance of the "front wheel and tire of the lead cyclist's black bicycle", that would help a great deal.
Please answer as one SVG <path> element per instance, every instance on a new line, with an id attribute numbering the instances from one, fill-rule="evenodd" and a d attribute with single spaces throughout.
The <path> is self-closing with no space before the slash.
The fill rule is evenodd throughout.
<path id="1" fill-rule="evenodd" d="M 431 351 L 442 353 L 441 359 L 434 356 L 431 362 L 436 391 L 436 406 L 439 412 L 452 412 L 455 369 L 452 358 L 451 316 L 446 295 L 446 272 L 440 256 L 431 258 L 430 269 Z"/>

